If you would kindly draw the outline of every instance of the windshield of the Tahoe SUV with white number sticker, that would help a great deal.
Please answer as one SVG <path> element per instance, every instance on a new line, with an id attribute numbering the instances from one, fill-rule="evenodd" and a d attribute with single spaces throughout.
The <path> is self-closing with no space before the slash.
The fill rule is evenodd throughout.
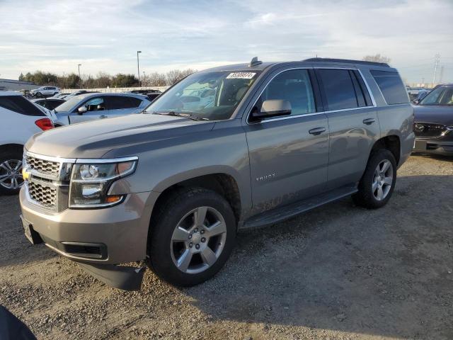
<path id="1" fill-rule="evenodd" d="M 147 113 L 188 114 L 203 120 L 231 118 L 259 72 L 202 72 L 183 79 L 148 106 Z"/>

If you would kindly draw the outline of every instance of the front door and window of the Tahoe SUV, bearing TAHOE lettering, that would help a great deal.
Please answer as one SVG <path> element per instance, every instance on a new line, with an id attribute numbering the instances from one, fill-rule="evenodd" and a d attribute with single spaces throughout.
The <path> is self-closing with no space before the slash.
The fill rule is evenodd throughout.
<path id="1" fill-rule="evenodd" d="M 244 125 L 251 166 L 253 212 L 270 210 L 325 191 L 328 123 L 316 106 L 316 78 L 309 69 L 275 72 L 251 111 L 266 100 L 291 103 L 291 115 Z"/>

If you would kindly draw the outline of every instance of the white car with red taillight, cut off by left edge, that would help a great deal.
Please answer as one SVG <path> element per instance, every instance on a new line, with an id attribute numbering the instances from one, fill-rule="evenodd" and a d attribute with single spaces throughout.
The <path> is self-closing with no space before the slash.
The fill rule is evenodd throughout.
<path id="1" fill-rule="evenodd" d="M 0 195 L 23 185 L 23 146 L 35 133 L 49 130 L 52 120 L 35 104 L 13 91 L 0 91 Z"/>

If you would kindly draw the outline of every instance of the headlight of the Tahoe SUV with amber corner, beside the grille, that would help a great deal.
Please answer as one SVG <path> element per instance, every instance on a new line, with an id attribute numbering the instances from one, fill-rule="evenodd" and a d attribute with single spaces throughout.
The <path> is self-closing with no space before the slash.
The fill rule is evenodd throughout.
<path id="1" fill-rule="evenodd" d="M 137 157 L 96 163 L 78 160 L 72 168 L 69 208 L 103 208 L 121 203 L 125 195 L 108 195 L 108 189 L 117 179 L 132 174 L 136 166 Z"/>

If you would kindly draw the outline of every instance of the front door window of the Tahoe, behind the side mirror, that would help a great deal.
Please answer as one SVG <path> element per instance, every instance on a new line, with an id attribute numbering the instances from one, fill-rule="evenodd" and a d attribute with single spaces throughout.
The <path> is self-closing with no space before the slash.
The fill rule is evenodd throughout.
<path id="1" fill-rule="evenodd" d="M 306 69 L 291 69 L 282 72 L 270 81 L 257 101 L 260 108 L 264 101 L 282 99 L 291 103 L 291 115 L 316 112 L 309 72 Z"/>

